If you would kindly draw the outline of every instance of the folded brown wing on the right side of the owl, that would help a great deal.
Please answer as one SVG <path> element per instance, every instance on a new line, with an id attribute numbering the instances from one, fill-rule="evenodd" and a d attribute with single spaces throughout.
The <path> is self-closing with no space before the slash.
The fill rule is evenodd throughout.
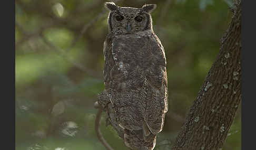
<path id="1" fill-rule="evenodd" d="M 149 43 L 149 72 L 146 76 L 147 95 L 144 120 L 151 133 L 162 131 L 165 113 L 168 111 L 168 87 L 164 48 L 156 35 Z"/>

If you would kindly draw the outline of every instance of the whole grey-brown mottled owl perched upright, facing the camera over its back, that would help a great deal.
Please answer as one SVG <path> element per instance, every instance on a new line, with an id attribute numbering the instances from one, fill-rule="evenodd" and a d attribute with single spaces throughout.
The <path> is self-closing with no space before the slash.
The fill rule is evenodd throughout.
<path id="1" fill-rule="evenodd" d="M 155 4 L 141 8 L 105 3 L 110 10 L 104 42 L 100 104 L 107 122 L 131 149 L 154 149 L 168 111 L 164 48 L 152 28 Z"/>

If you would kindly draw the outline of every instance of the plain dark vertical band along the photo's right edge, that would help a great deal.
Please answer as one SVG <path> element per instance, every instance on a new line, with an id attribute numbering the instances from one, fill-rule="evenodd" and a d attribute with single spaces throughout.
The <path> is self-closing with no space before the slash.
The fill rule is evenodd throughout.
<path id="1" fill-rule="evenodd" d="M 255 18 L 255 13 L 253 13 L 253 10 L 255 10 L 255 5 L 250 4 L 248 2 L 255 2 L 255 1 L 245 1 L 242 0 L 242 16 L 241 16 L 241 42 L 242 42 L 242 48 L 241 48 L 241 126 L 242 126 L 242 132 L 241 132 L 241 147 L 242 149 L 251 149 L 254 146 L 255 140 L 253 137 L 253 133 L 255 133 L 255 124 L 254 124 L 254 110 L 255 105 L 250 102 L 254 101 L 254 85 L 255 85 L 255 63 L 252 60 L 255 60 L 255 55 L 253 55 L 251 52 L 255 49 L 253 46 L 253 42 L 255 43 L 255 38 L 245 37 L 246 35 L 253 35 L 255 34 L 255 30 L 252 29 L 256 27 L 255 21 L 252 18 Z M 247 23 L 245 25 L 245 18 L 248 18 L 247 21 L 250 23 Z M 250 19 L 250 20 L 249 20 Z M 251 54 L 249 54 L 251 53 Z M 247 59 L 245 59 L 245 55 L 247 56 Z M 249 58 L 251 57 L 251 58 Z M 245 69 L 247 68 L 248 72 L 245 73 Z M 249 69 L 250 70 L 249 70 Z M 245 79 L 247 79 L 247 82 L 245 82 Z M 251 80 L 251 79 L 254 79 Z M 249 83 L 250 88 L 247 87 L 245 90 L 246 85 L 248 86 Z M 253 85 L 254 84 L 254 85 Z M 252 134 L 252 136 L 249 136 Z"/>

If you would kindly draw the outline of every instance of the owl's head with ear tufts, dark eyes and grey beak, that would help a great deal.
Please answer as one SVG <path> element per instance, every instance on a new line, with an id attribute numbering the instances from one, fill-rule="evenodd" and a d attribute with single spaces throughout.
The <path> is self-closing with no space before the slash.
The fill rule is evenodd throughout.
<path id="1" fill-rule="evenodd" d="M 110 10 L 108 23 L 111 33 L 134 34 L 138 31 L 152 30 L 150 13 L 156 8 L 156 4 L 132 8 L 120 7 L 113 2 L 107 2 L 105 7 Z"/>

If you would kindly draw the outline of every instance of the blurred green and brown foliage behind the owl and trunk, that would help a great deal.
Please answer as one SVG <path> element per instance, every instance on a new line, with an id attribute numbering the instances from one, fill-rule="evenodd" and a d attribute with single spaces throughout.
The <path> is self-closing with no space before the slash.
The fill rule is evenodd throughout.
<path id="1" fill-rule="evenodd" d="M 16 149 L 104 149 L 94 131 L 96 94 L 104 89 L 107 10 L 100 0 L 15 1 Z M 219 52 L 232 17 L 229 0 L 119 1 L 157 4 L 153 29 L 165 48 L 169 112 L 155 149 L 170 149 Z M 127 149 L 111 126 L 114 149 Z M 223 150 L 241 149 L 241 110 Z"/>

